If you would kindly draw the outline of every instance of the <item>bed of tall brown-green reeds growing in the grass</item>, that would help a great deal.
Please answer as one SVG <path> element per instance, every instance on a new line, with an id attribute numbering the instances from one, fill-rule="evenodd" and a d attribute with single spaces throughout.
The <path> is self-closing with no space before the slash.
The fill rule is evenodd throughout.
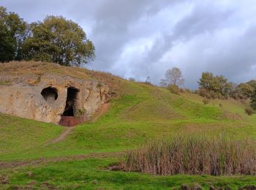
<path id="1" fill-rule="evenodd" d="M 256 175 L 256 151 L 254 142 L 226 135 L 177 136 L 130 151 L 120 167 L 155 175 Z"/>

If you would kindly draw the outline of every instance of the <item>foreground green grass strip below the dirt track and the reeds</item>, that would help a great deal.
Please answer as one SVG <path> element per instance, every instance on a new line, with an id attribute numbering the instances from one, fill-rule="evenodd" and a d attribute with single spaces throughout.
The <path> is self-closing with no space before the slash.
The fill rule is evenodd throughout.
<path id="1" fill-rule="evenodd" d="M 35 181 L 34 188 L 42 183 L 58 189 L 170 189 L 180 188 L 182 184 L 193 186 L 200 184 L 203 189 L 209 186 L 238 189 L 240 186 L 256 185 L 254 176 L 209 176 L 209 175 L 173 175 L 159 176 L 136 172 L 109 171 L 108 166 L 118 159 L 86 159 L 84 161 L 61 161 L 49 163 L 45 166 L 30 166 L 13 170 L 2 170 L 0 174 L 11 176 L 10 184 L 4 188 L 14 186 L 24 187 Z M 28 174 L 31 174 L 30 176 Z M 97 184 L 94 183 L 97 180 Z"/>

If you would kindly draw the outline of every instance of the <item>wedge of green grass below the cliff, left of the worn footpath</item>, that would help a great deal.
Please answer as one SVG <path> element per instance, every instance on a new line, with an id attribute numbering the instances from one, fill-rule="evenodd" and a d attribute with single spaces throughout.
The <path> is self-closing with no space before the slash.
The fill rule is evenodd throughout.
<path id="1" fill-rule="evenodd" d="M 0 155 L 26 154 L 37 150 L 58 136 L 64 128 L 51 123 L 43 123 L 10 115 L 0 114 Z"/>

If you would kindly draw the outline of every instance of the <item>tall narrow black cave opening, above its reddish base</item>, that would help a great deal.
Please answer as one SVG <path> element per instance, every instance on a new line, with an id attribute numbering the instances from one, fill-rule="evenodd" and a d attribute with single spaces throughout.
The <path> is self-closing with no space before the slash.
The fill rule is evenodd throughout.
<path id="1" fill-rule="evenodd" d="M 61 116 L 74 116 L 76 111 L 78 88 L 67 88 L 67 101 L 64 109 L 64 113 Z"/>

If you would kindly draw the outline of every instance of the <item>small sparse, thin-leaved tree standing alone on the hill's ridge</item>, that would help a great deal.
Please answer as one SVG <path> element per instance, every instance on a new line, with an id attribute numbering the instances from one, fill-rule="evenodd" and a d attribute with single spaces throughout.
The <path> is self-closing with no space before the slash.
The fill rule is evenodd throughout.
<path id="1" fill-rule="evenodd" d="M 184 84 L 184 77 L 181 74 L 181 69 L 178 67 L 173 67 L 171 69 L 167 69 L 165 72 L 165 79 L 162 79 L 160 84 L 161 86 L 181 86 Z"/>

